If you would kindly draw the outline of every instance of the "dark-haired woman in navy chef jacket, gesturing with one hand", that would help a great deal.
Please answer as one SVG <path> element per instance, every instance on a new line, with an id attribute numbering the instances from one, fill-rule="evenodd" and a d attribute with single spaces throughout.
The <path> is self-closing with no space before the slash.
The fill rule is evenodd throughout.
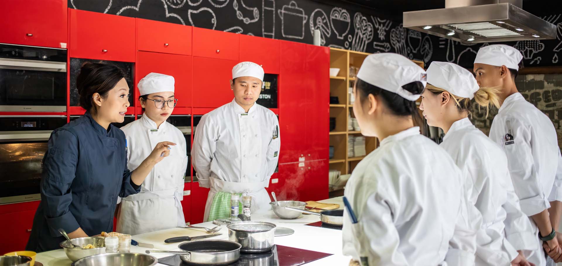
<path id="1" fill-rule="evenodd" d="M 134 171 L 127 169 L 123 122 L 129 86 L 119 67 L 85 63 L 76 78 L 80 106 L 87 111 L 52 132 L 43 158 L 41 203 L 26 250 L 59 249 L 64 229 L 71 239 L 113 230 L 117 196 L 139 192 L 156 163 L 170 153 L 158 143 Z"/>

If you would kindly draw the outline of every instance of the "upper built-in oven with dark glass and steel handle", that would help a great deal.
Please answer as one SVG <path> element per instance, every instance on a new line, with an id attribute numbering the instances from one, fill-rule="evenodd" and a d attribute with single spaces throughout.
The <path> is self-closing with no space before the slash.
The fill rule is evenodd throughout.
<path id="1" fill-rule="evenodd" d="M 66 54 L 0 44 L 0 111 L 66 112 Z"/>

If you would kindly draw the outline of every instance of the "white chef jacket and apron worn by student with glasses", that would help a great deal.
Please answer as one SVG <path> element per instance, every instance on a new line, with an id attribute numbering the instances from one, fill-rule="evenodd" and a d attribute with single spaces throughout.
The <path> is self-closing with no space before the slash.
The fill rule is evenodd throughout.
<path id="1" fill-rule="evenodd" d="M 182 204 L 187 147 L 182 131 L 168 122 L 156 129 L 147 116 L 121 127 L 127 139 L 127 166 L 136 169 L 162 141 L 171 141 L 170 155 L 158 162 L 138 194 L 121 199 L 117 232 L 129 235 L 185 226 Z"/>

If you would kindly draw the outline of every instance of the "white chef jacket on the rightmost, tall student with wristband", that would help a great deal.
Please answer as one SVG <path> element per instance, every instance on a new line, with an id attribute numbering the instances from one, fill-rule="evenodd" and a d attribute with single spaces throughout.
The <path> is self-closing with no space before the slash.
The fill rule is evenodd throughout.
<path id="1" fill-rule="evenodd" d="M 509 140 L 510 136 L 506 139 L 506 134 L 513 136 L 513 140 Z M 562 176 L 556 173 L 560 149 L 549 117 L 520 93 L 512 94 L 493 119 L 490 139 L 500 144 L 507 155 L 523 213 L 531 216 L 550 208 L 549 201 L 562 201 Z M 531 225 L 538 239 L 538 227 L 532 219 Z M 546 263 L 542 246 L 525 256 L 536 265 Z"/>

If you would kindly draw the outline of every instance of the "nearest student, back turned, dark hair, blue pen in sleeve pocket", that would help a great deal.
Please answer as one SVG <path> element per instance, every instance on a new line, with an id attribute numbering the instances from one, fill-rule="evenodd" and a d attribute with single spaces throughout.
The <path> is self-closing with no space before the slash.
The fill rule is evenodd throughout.
<path id="1" fill-rule="evenodd" d="M 425 71 L 395 53 L 365 58 L 353 87 L 353 113 L 380 146 L 353 170 L 345 196 L 343 254 L 362 265 L 474 265 L 481 217 L 467 203 L 451 157 L 420 135 L 413 115 Z M 475 212 L 475 213 L 474 213 Z"/>

